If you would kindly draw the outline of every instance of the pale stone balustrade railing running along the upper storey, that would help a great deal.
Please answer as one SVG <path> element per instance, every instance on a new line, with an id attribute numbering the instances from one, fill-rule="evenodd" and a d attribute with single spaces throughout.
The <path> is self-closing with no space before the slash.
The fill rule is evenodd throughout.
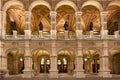
<path id="1" fill-rule="evenodd" d="M 23 40 L 26 39 L 24 35 L 6 35 L 3 39 L 5 40 Z M 31 35 L 31 40 L 50 40 L 51 35 Z M 102 37 L 101 35 L 82 35 L 76 38 L 75 35 L 59 35 L 56 36 L 56 40 L 76 40 L 76 39 L 83 39 L 83 40 L 101 40 L 101 39 L 120 39 L 120 36 L 115 35 L 107 35 L 105 37 Z"/>

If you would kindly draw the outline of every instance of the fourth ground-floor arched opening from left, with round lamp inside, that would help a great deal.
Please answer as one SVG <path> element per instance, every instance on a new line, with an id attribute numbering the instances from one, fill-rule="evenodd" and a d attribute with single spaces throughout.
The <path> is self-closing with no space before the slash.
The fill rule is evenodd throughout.
<path id="1" fill-rule="evenodd" d="M 98 73 L 100 68 L 99 53 L 96 50 L 87 50 L 84 53 L 83 69 L 85 73 Z"/>

